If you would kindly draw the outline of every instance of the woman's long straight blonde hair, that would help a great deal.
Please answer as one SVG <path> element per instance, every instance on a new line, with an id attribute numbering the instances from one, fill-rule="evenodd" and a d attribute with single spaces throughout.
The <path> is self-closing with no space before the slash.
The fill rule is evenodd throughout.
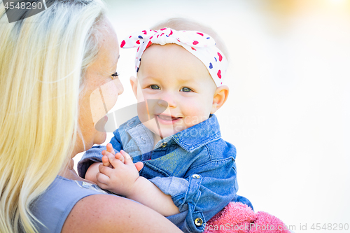
<path id="1" fill-rule="evenodd" d="M 0 1 L 0 232 L 37 232 L 30 208 L 71 159 L 104 15 L 99 0 L 55 1 L 8 23 Z"/>

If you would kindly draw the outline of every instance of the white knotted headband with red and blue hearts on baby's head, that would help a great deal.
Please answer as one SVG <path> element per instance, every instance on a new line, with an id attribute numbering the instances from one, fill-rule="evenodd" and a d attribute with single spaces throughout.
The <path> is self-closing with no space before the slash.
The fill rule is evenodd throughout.
<path id="1" fill-rule="evenodd" d="M 176 43 L 200 59 L 207 67 L 217 87 L 223 84 L 223 77 L 228 69 L 228 60 L 216 47 L 214 38 L 199 31 L 176 31 L 163 28 L 159 31 L 144 30 L 136 32 L 122 41 L 121 48 L 137 48 L 135 59 L 136 70 L 139 71 L 141 57 L 152 43 L 165 45 Z"/>

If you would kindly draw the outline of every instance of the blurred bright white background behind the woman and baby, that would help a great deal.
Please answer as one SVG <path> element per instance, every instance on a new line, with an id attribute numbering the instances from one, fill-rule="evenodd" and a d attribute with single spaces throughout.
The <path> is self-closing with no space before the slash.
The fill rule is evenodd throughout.
<path id="1" fill-rule="evenodd" d="M 321 232 L 335 232 L 334 224 L 345 232 L 339 224 L 350 225 L 350 0 L 106 2 L 119 41 L 168 17 L 214 28 L 230 52 L 230 96 L 216 115 L 223 139 L 237 148 L 238 194 L 294 232 L 314 232 L 313 223 L 332 224 Z M 135 52 L 120 50 L 125 91 L 113 110 L 136 103 L 129 82 Z"/>

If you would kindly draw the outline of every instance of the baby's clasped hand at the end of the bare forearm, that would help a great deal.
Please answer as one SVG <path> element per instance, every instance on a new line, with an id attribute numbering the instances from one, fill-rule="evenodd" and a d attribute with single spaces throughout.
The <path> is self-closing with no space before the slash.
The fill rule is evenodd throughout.
<path id="1" fill-rule="evenodd" d="M 104 166 L 104 164 L 99 165 L 97 185 L 105 190 L 127 197 L 134 192 L 134 183 L 139 178 L 139 171 L 132 162 L 130 155 L 123 150 L 120 151 L 120 155 L 122 155 L 125 163 L 111 155 L 111 153 L 106 153 L 112 168 Z"/>

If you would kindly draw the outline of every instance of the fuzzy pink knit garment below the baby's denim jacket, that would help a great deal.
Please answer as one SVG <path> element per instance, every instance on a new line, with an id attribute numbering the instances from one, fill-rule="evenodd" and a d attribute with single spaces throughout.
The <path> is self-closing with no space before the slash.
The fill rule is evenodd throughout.
<path id="1" fill-rule="evenodd" d="M 246 204 L 230 202 L 211 218 L 204 233 L 290 233 L 279 218 L 254 211 Z"/>

